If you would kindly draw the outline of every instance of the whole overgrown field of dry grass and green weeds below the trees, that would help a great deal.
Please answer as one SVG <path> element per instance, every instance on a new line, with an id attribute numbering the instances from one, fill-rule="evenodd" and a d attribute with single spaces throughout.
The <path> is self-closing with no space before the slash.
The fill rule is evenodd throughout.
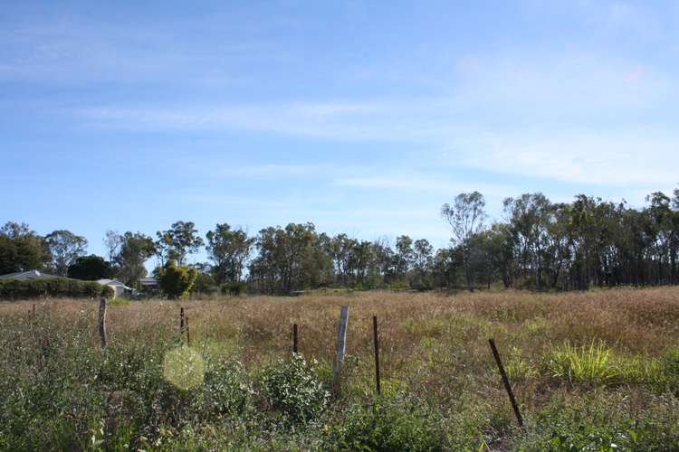
<path id="1" fill-rule="evenodd" d="M 679 288 L 114 302 L 105 352 L 96 302 L 32 305 L 0 305 L 3 449 L 679 450 Z"/>

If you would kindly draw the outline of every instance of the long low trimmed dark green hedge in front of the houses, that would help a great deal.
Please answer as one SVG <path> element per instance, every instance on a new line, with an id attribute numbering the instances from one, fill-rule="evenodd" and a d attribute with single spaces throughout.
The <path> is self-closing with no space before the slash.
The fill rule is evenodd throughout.
<path id="1" fill-rule="evenodd" d="M 0 299 L 113 297 L 111 287 L 69 278 L 0 279 Z"/>

